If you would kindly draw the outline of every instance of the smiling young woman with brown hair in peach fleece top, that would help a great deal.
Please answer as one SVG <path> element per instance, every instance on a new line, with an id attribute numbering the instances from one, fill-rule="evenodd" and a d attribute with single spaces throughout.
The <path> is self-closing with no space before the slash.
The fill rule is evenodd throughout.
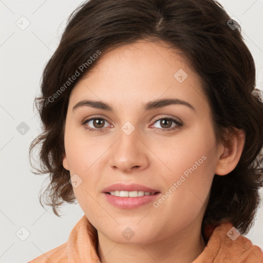
<path id="1" fill-rule="evenodd" d="M 219 3 L 84 3 L 36 102 L 47 204 L 77 199 L 85 215 L 30 262 L 263 261 L 242 236 L 263 186 L 263 104 Z"/>

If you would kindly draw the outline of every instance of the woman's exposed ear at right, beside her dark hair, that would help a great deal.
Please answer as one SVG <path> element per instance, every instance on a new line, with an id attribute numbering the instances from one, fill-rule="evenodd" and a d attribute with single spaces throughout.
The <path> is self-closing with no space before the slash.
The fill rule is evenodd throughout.
<path id="1" fill-rule="evenodd" d="M 222 146 L 223 153 L 220 153 L 215 174 L 227 175 L 236 167 L 245 145 L 246 133 L 242 129 L 237 129 L 236 134 L 231 135 L 230 140 Z"/>

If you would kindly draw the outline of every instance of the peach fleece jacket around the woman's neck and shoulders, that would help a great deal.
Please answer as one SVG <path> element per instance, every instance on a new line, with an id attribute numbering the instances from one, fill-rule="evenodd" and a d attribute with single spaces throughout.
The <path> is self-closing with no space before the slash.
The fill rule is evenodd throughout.
<path id="1" fill-rule="evenodd" d="M 259 247 L 239 235 L 232 223 L 203 230 L 206 247 L 192 263 L 263 263 Z M 96 229 L 84 215 L 70 232 L 69 239 L 28 263 L 100 263 Z"/>

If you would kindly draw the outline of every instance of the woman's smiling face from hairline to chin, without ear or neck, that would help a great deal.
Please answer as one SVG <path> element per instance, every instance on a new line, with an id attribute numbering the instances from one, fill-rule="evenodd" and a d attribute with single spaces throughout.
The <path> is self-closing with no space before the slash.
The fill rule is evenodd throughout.
<path id="1" fill-rule="evenodd" d="M 100 57 L 71 92 L 65 151 L 74 194 L 99 234 L 147 243 L 200 228 L 219 159 L 211 110 L 197 74 L 160 43 Z M 105 193 L 116 183 L 155 191 Z"/>

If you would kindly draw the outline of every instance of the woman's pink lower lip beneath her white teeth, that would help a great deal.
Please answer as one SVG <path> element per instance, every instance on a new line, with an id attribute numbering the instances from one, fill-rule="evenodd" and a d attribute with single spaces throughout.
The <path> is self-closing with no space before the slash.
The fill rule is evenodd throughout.
<path id="1" fill-rule="evenodd" d="M 144 195 L 138 197 L 120 197 L 106 193 L 103 194 L 109 203 L 122 209 L 138 208 L 141 205 L 153 202 L 160 195 L 160 193 L 157 193 L 155 195 Z"/>

